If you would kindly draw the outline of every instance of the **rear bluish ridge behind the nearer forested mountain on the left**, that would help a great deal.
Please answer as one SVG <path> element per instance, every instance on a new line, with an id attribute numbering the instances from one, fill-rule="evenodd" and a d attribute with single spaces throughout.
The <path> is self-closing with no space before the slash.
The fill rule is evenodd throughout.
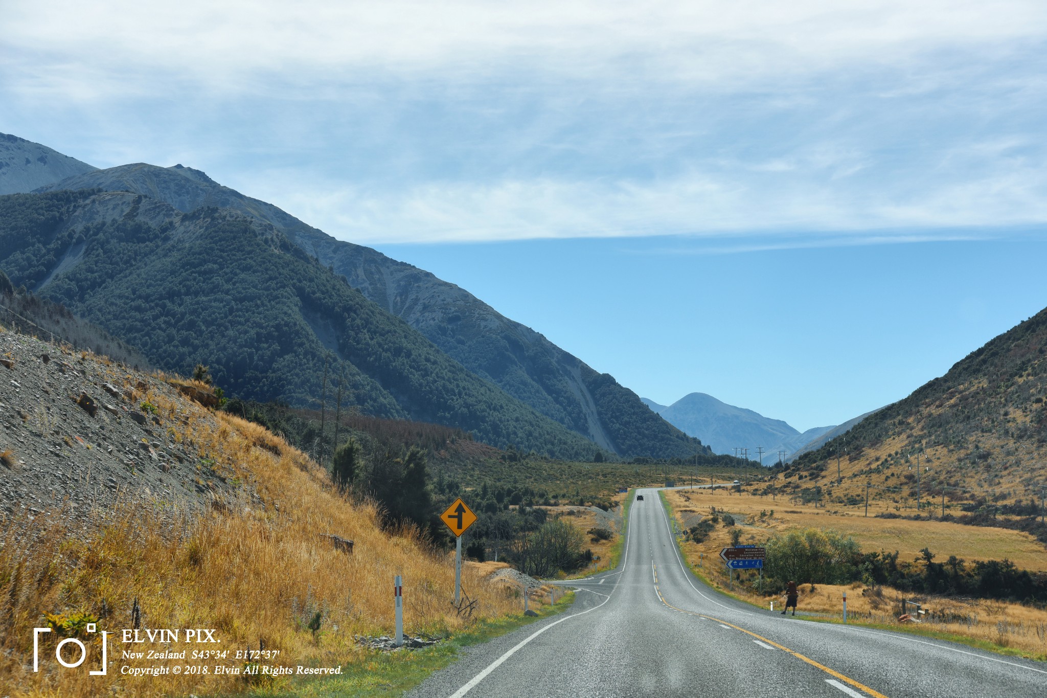
<path id="1" fill-rule="evenodd" d="M 470 371 L 607 450 L 658 457 L 707 451 L 644 407 L 636 393 L 611 376 L 597 373 L 458 286 L 369 247 L 335 240 L 272 204 L 214 182 L 200 171 L 137 163 L 88 173 L 46 188 L 93 187 L 142 194 L 185 212 L 200 206 L 229 207 L 271 223 Z"/>

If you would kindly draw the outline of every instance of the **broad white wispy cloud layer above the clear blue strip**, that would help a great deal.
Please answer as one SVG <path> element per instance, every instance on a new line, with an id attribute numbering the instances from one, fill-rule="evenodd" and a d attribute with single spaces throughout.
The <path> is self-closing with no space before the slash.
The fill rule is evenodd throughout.
<path id="1" fill-rule="evenodd" d="M 192 164 L 347 240 L 1047 222 L 1042 2 L 8 1 L 3 23 L 6 130 Z"/>

